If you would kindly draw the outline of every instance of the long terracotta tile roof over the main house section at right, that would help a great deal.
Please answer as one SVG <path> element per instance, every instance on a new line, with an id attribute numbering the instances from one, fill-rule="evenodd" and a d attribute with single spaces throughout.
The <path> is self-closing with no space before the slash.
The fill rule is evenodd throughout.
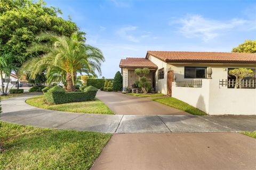
<path id="1" fill-rule="evenodd" d="M 256 53 L 148 51 L 164 62 L 256 63 Z"/>

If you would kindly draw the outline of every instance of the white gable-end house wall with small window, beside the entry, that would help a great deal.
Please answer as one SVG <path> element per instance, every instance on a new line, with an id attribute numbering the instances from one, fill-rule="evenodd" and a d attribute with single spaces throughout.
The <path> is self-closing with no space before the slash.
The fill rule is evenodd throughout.
<path id="1" fill-rule="evenodd" d="M 158 93 L 167 95 L 167 71 L 170 65 L 151 55 L 148 56 L 148 60 L 156 64 L 158 70 L 164 68 L 164 79 L 158 80 L 158 70 L 156 71 L 156 91 Z"/>

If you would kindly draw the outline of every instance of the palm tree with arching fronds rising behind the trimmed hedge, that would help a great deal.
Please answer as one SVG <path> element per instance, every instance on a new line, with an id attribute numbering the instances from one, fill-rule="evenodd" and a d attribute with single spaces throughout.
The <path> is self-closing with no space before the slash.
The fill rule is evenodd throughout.
<path id="1" fill-rule="evenodd" d="M 46 75 L 66 75 L 67 91 L 75 91 L 77 72 L 101 74 L 101 62 L 105 61 L 100 49 L 85 45 L 81 33 L 75 32 L 71 37 L 58 36 L 51 32 L 41 33 L 38 40 L 50 40 L 48 43 L 37 43 L 31 46 L 30 52 L 43 52 L 39 57 L 27 61 L 21 66 L 19 75 L 29 72 L 31 79 L 37 73 L 46 71 Z"/>

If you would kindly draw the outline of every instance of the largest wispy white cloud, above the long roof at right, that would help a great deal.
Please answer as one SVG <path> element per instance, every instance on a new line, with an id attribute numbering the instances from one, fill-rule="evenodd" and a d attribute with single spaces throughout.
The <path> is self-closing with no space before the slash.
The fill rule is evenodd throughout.
<path id="1" fill-rule="evenodd" d="M 188 15 L 185 18 L 172 20 L 169 24 L 179 24 L 179 31 L 187 38 L 199 37 L 204 41 L 209 41 L 229 30 L 241 28 L 241 26 L 247 25 L 250 26 L 247 29 L 253 28 L 255 22 L 244 19 L 218 21 L 204 18 L 202 15 Z"/>

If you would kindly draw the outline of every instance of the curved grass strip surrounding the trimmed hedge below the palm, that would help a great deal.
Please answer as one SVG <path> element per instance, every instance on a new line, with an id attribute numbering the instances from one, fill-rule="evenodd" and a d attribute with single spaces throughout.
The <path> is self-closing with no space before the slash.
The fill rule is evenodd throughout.
<path id="1" fill-rule="evenodd" d="M 94 101 L 82 101 L 75 103 L 65 103 L 59 105 L 48 105 L 44 102 L 44 95 L 35 96 L 26 100 L 26 103 L 35 107 L 50 109 L 54 111 L 76 112 L 76 113 L 96 113 L 114 114 L 108 106 L 99 99 Z"/>

